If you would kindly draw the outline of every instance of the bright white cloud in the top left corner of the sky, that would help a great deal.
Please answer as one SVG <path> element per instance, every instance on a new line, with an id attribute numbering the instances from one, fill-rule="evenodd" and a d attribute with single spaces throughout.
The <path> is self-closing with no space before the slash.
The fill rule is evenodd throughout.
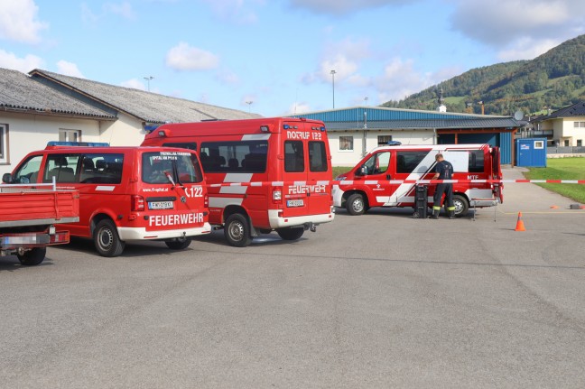
<path id="1" fill-rule="evenodd" d="M 39 7 L 33 0 L 0 0 L 0 39 L 36 43 L 40 33 L 49 27 L 37 18 Z"/>

